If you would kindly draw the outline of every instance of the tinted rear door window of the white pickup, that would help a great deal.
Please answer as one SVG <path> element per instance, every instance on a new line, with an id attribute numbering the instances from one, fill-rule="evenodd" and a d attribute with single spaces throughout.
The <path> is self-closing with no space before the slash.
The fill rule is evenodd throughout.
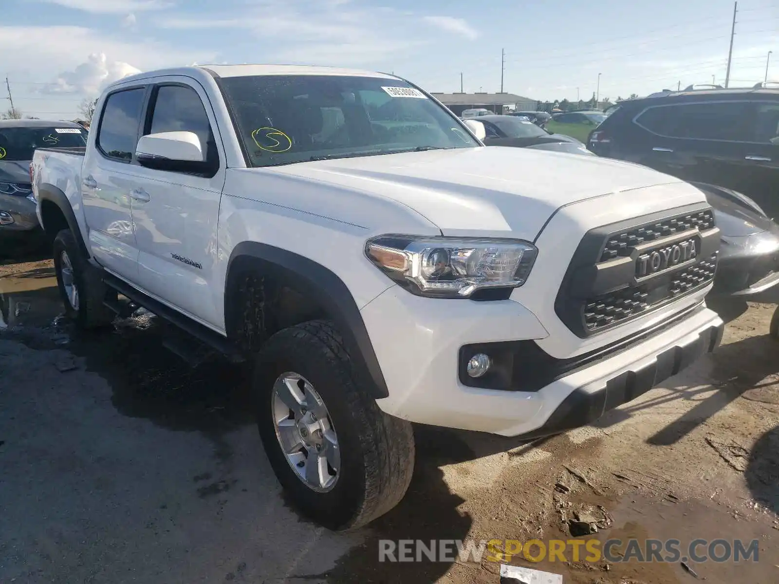
<path id="1" fill-rule="evenodd" d="M 138 144 L 138 125 L 145 89 L 118 91 L 108 96 L 97 134 L 97 146 L 111 158 L 132 160 Z"/>

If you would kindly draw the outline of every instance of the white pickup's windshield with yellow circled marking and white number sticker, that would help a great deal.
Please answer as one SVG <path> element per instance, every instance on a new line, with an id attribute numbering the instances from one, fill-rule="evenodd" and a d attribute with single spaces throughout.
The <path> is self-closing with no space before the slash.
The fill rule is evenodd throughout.
<path id="1" fill-rule="evenodd" d="M 448 111 L 399 79 L 221 79 L 254 167 L 478 146 Z"/>

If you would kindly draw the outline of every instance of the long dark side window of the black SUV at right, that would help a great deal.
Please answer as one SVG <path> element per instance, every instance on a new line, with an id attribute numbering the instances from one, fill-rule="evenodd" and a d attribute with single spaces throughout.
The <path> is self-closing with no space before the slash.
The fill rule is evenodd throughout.
<path id="1" fill-rule="evenodd" d="M 749 140 L 749 105 L 746 101 L 721 101 L 650 107 L 636 123 L 671 138 L 745 142 Z"/>

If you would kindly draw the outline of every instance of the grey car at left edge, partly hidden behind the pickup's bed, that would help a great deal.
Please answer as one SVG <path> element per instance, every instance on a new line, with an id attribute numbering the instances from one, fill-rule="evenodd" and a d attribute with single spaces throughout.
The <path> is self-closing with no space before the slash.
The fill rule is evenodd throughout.
<path id="1" fill-rule="evenodd" d="M 72 121 L 0 121 L 0 234 L 39 227 L 30 185 L 34 150 L 85 145 L 86 130 Z"/>

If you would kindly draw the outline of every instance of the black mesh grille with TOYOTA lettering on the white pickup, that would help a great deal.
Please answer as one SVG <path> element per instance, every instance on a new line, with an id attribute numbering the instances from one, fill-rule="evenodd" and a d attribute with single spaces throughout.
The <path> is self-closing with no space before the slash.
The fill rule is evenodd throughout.
<path id="1" fill-rule="evenodd" d="M 576 249 L 555 311 L 582 338 L 627 322 L 707 287 L 719 246 L 701 205 L 597 227 Z"/>

